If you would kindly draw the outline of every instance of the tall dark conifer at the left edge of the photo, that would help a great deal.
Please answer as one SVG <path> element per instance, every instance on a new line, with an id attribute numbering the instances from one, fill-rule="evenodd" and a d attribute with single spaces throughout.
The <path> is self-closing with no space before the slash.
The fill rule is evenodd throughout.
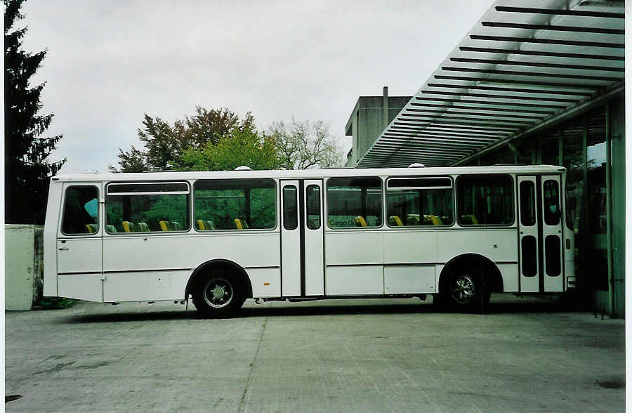
<path id="1" fill-rule="evenodd" d="M 27 53 L 22 39 L 27 27 L 14 29 L 23 0 L 4 1 L 4 176 L 6 223 L 43 224 L 48 198 L 48 179 L 66 159 L 50 162 L 48 156 L 62 135 L 41 137 L 53 114 L 38 114 L 46 82 L 32 86 L 46 51 Z"/>

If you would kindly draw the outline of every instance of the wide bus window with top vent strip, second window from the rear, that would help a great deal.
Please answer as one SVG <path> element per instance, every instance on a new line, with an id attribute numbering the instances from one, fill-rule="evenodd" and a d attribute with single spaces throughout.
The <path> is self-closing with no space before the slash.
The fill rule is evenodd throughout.
<path id="1" fill-rule="evenodd" d="M 150 185 L 150 184 L 154 184 L 154 185 L 159 185 L 162 183 L 185 183 L 187 185 L 188 188 L 188 192 L 185 191 L 169 191 L 169 192 L 119 192 L 119 193 L 113 193 L 110 194 L 107 190 L 107 188 L 114 184 L 114 185 L 137 185 L 137 184 L 141 184 L 141 185 Z M 109 232 L 107 230 L 107 197 L 117 197 L 117 196 L 130 196 L 130 195 L 188 195 L 187 197 L 187 214 L 192 214 L 192 199 L 193 199 L 193 191 L 192 191 L 192 185 L 189 181 L 106 181 L 103 183 L 103 224 L 104 224 L 104 229 L 103 229 L 103 234 L 107 235 L 107 236 L 112 236 L 112 237 L 121 237 L 121 236 L 127 236 L 127 237 L 147 237 L 148 235 L 150 236 L 154 236 L 154 235 L 173 235 L 173 234 L 178 234 L 178 235 L 182 235 L 185 234 L 186 232 L 190 232 L 191 228 L 193 226 L 193 215 L 190 216 L 189 219 L 189 225 L 187 228 L 184 228 L 182 230 L 179 231 L 145 231 L 145 232 Z"/>

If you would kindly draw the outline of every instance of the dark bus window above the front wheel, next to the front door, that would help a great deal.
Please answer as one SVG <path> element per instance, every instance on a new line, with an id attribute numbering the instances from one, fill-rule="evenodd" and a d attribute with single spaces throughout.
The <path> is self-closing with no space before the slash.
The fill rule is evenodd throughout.
<path id="1" fill-rule="evenodd" d="M 513 208 L 511 176 L 486 173 L 456 178 L 459 225 L 511 225 Z"/>

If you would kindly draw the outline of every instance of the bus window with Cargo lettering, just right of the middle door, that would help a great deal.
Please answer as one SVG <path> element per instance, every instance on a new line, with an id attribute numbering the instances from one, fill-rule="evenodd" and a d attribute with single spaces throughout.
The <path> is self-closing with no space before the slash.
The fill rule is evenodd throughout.
<path id="1" fill-rule="evenodd" d="M 381 227 L 381 178 L 329 178 L 327 225 L 329 228 Z"/>

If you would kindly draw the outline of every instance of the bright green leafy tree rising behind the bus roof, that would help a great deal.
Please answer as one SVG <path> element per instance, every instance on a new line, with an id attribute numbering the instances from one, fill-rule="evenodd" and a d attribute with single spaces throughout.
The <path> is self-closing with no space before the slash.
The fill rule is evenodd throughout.
<path id="1" fill-rule="evenodd" d="M 251 169 L 276 169 L 279 165 L 275 141 L 260 136 L 253 126 L 234 127 L 216 144 L 206 142 L 203 147 L 190 147 L 176 165 L 178 171 L 231 171 L 237 166 Z"/>

